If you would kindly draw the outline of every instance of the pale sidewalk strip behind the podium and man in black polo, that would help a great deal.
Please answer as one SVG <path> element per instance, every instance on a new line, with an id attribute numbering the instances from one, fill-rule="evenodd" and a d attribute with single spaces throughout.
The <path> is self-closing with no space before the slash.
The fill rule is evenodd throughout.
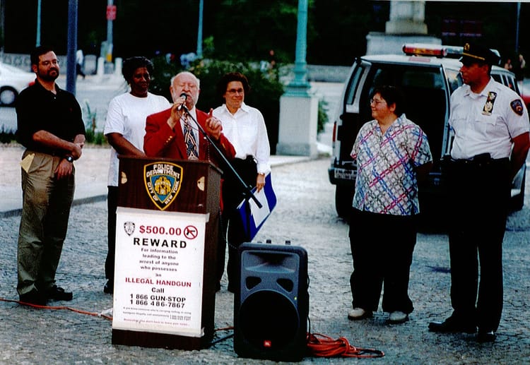
<path id="1" fill-rule="evenodd" d="M 0 146 L 0 217 L 20 215 L 22 189 L 20 188 L 20 157 L 24 148 L 20 145 Z M 110 147 L 88 147 L 75 162 L 76 193 L 73 204 L 90 203 L 107 199 L 107 174 Z M 271 156 L 271 165 L 279 166 L 310 160 L 305 156 Z"/>

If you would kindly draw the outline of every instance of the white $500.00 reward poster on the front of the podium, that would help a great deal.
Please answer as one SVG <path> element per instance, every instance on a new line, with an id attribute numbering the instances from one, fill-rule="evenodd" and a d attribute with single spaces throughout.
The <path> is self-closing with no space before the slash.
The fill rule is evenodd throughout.
<path id="1" fill-rule="evenodd" d="M 208 215 L 118 207 L 112 328 L 201 337 Z"/>

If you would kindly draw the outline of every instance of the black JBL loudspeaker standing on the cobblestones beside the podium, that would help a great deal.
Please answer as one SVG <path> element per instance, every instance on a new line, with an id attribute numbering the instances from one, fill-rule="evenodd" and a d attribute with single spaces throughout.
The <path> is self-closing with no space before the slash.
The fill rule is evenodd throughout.
<path id="1" fill-rule="evenodd" d="M 234 350 L 240 357 L 300 361 L 307 348 L 307 252 L 245 243 L 234 299 Z"/>

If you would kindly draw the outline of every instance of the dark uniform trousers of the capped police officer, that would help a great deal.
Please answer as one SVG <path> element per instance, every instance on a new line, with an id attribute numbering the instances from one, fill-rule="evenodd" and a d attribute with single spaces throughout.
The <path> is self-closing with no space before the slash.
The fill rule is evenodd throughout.
<path id="1" fill-rule="evenodd" d="M 447 164 L 453 316 L 471 318 L 485 331 L 497 330 L 502 313 L 502 239 L 510 201 L 509 176 L 507 158 Z"/>

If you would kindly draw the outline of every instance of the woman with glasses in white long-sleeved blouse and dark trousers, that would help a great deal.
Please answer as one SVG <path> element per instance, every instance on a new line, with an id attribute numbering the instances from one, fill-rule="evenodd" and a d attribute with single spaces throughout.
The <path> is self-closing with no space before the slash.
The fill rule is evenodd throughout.
<path id="1" fill-rule="evenodd" d="M 218 95 L 224 104 L 213 110 L 213 115 L 223 124 L 223 133 L 235 148 L 232 165 L 247 186 L 260 191 L 265 185 L 265 175 L 271 171 L 271 148 L 265 121 L 258 109 L 245 104 L 250 85 L 239 72 L 226 73 L 218 82 Z M 225 248 L 228 241 L 228 291 L 235 292 L 237 280 L 237 247 L 247 240 L 237 216 L 237 205 L 245 198 L 244 188 L 232 172 L 223 174 L 223 214 L 221 215 L 220 244 L 218 248 L 218 278 L 223 276 Z M 228 239 L 227 239 L 228 237 Z M 220 289 L 220 286 L 218 287 Z"/>

